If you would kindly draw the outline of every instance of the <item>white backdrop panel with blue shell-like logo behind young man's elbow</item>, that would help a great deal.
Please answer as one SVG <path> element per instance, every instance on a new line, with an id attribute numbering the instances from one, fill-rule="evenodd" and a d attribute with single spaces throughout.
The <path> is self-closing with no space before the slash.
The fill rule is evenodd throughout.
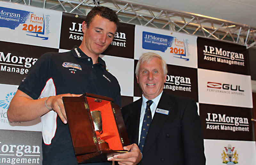
<path id="1" fill-rule="evenodd" d="M 9 122 L 7 119 L 7 109 L 12 97 L 16 93 L 18 86 L 0 84 L 0 129 L 1 130 L 22 130 L 22 131 L 41 131 L 40 118 L 29 122 Z"/>

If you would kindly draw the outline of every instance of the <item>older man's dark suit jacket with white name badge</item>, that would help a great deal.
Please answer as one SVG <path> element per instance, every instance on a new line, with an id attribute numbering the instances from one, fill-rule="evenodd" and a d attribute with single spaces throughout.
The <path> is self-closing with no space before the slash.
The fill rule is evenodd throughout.
<path id="1" fill-rule="evenodd" d="M 131 144 L 138 145 L 142 98 L 122 108 Z M 201 120 L 196 102 L 190 98 L 163 92 L 142 151 L 140 165 L 205 165 Z"/>

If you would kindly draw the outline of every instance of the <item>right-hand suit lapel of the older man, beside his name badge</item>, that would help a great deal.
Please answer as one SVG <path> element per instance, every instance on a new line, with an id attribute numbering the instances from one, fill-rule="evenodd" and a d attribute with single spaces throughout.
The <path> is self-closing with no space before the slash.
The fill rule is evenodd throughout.
<path id="1" fill-rule="evenodd" d="M 145 140 L 144 148 L 142 154 L 146 153 L 148 149 L 152 146 L 155 142 L 156 137 L 158 136 L 160 130 L 162 129 L 165 121 L 171 115 L 172 107 L 174 106 L 175 100 L 170 97 L 170 95 L 163 92 L 160 101 L 157 105 L 157 108 L 169 110 L 168 115 L 155 113 L 153 120 L 150 124 L 148 135 Z"/>

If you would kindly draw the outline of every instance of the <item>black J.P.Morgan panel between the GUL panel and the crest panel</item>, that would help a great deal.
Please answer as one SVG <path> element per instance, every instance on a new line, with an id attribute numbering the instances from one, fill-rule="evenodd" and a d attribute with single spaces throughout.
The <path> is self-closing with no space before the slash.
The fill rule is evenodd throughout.
<path id="1" fill-rule="evenodd" d="M 204 139 L 254 141 L 252 109 L 199 103 Z"/>

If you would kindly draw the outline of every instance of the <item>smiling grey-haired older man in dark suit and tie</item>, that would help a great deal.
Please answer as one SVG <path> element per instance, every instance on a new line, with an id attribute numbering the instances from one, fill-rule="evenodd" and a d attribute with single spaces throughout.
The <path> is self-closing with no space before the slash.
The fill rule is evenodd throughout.
<path id="1" fill-rule="evenodd" d="M 136 66 L 142 98 L 122 108 L 131 144 L 142 152 L 140 165 L 203 165 L 204 142 L 196 102 L 163 91 L 167 65 L 144 53 Z"/>

